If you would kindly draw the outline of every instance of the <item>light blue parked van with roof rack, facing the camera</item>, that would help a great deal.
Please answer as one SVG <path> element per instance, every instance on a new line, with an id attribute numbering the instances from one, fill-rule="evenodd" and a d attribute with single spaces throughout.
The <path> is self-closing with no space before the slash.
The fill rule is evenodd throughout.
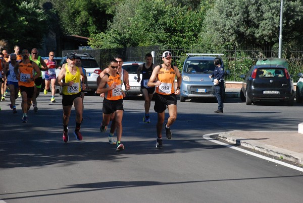
<path id="1" fill-rule="evenodd" d="M 187 53 L 186 55 L 182 67 L 180 102 L 191 98 L 216 98 L 215 85 L 209 76 L 215 70 L 214 59 L 223 54 Z M 224 67 L 222 59 L 221 65 Z M 229 75 L 229 71 L 226 71 L 226 75 Z"/>

